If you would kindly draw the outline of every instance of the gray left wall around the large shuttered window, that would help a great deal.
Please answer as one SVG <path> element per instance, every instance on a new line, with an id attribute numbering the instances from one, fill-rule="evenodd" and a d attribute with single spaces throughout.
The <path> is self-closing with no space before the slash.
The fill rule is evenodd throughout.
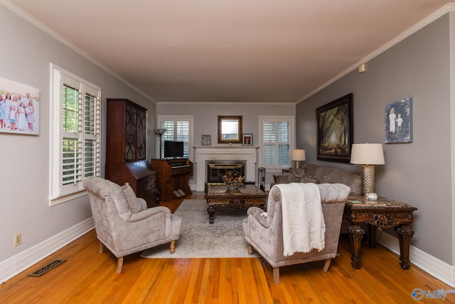
<path id="1" fill-rule="evenodd" d="M 39 136 L 0 133 L 1 262 L 92 216 L 87 196 L 49 206 L 50 63 L 100 86 L 103 131 L 106 98 L 129 98 L 148 108 L 152 126 L 156 104 L 4 6 L 0 6 L 0 28 L 0 77 L 38 88 L 41 104 Z M 149 136 L 151 132 L 153 127 Z M 104 176 L 105 138 L 102 142 Z M 154 152 L 153 141 L 149 148 Z M 22 244 L 14 247 L 13 236 L 19 232 Z"/>

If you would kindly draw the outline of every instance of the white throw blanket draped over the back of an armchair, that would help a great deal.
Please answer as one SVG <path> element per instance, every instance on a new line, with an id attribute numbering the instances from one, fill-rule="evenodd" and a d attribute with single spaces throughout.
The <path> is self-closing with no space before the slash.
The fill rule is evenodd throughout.
<path id="1" fill-rule="evenodd" d="M 284 256 L 325 246 L 321 195 L 316 184 L 277 184 L 282 193 Z"/>

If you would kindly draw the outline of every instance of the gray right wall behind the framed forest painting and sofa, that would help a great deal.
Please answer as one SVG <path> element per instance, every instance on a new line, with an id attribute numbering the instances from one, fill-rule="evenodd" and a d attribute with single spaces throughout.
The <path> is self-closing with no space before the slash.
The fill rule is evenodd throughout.
<path id="1" fill-rule="evenodd" d="M 358 165 L 316 161 L 315 109 L 353 93 L 354 142 L 384 144 L 385 165 L 375 167 L 376 192 L 416 206 L 412 246 L 453 265 L 450 130 L 454 122 L 449 83 L 453 26 L 451 31 L 446 14 L 368 62 L 365 73 L 353 71 L 299 103 L 296 129 L 308 162 L 360 171 Z M 414 142 L 385 145 L 385 105 L 403 98 L 413 98 Z"/>

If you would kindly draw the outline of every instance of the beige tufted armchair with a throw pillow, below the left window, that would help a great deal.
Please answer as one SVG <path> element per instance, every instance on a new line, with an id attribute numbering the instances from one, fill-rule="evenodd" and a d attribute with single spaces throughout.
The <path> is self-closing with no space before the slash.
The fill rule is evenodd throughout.
<path id="1" fill-rule="evenodd" d="M 171 242 L 174 252 L 180 234 L 181 218 L 165 206 L 147 209 L 129 185 L 120 187 L 107 179 L 87 177 L 84 187 L 90 198 L 99 253 L 106 246 L 117 257 L 117 273 L 122 272 L 123 257 Z"/>

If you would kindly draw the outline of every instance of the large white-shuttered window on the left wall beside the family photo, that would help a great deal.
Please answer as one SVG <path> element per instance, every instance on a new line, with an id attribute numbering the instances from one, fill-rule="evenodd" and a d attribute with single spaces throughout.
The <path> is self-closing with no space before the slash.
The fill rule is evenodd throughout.
<path id="1" fill-rule="evenodd" d="M 85 195 L 100 176 L 101 90 L 51 64 L 50 204 Z"/>

